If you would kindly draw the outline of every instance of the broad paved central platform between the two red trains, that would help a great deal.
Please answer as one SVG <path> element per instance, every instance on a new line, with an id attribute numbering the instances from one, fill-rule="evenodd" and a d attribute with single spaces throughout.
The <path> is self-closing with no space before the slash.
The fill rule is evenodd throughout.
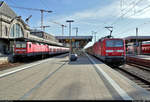
<path id="1" fill-rule="evenodd" d="M 0 71 L 0 83 L 2 100 L 150 100 L 150 92 L 87 54 Z"/>

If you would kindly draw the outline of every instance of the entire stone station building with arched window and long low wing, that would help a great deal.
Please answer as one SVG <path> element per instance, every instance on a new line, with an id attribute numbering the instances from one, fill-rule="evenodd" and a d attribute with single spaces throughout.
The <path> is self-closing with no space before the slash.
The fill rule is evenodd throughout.
<path id="1" fill-rule="evenodd" d="M 4 2 L 0 1 L 0 56 L 13 53 L 16 41 L 34 41 L 62 46 L 58 40 L 43 31 L 30 27 Z"/>

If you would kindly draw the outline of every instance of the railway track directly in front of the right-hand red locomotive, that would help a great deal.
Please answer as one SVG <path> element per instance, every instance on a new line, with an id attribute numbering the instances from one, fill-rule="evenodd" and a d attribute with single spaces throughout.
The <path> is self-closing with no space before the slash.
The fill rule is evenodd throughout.
<path id="1" fill-rule="evenodd" d="M 147 70 L 147 68 L 144 69 L 137 65 L 133 66 L 133 64 L 125 64 L 116 68 L 116 70 L 133 82 L 137 83 L 139 86 L 150 91 L 150 70 Z"/>

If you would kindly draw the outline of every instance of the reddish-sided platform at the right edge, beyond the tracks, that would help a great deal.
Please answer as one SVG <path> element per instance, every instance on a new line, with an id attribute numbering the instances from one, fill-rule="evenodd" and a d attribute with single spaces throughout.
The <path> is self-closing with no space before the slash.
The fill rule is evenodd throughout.
<path id="1" fill-rule="evenodd" d="M 150 67 L 150 56 L 148 55 L 127 55 L 127 62 Z"/>

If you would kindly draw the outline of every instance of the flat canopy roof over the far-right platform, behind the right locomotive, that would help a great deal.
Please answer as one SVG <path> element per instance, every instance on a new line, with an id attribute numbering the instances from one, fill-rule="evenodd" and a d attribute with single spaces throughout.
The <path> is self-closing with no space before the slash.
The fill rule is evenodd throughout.
<path id="1" fill-rule="evenodd" d="M 124 38 L 126 42 L 135 42 L 138 41 L 150 41 L 150 36 L 128 36 Z"/>

